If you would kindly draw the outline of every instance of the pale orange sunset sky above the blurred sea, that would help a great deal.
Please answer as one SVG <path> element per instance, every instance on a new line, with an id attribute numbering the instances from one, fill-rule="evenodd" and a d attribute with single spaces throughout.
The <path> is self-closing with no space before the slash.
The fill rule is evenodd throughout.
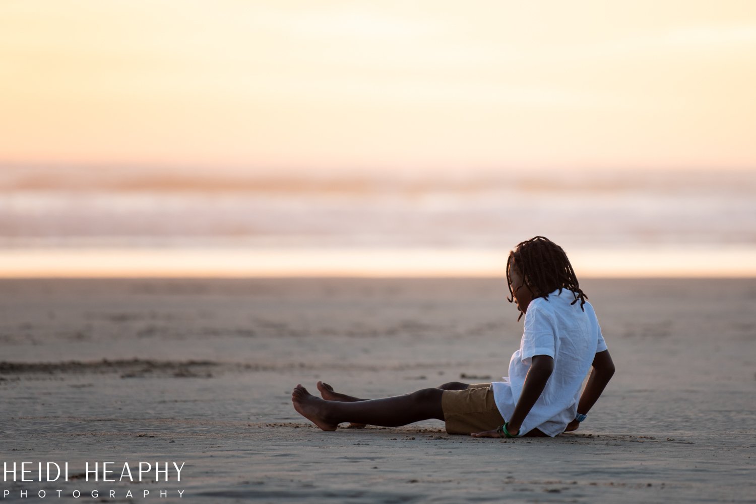
<path id="1" fill-rule="evenodd" d="M 0 162 L 756 167 L 756 2 L 2 2 Z"/>

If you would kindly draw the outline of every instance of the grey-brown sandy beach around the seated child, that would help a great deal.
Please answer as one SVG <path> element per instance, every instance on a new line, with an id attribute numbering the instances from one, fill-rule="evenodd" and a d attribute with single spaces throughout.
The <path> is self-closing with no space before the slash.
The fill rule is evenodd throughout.
<path id="1" fill-rule="evenodd" d="M 522 335 L 503 279 L 0 280 L 0 453 L 34 479 L 0 496 L 756 502 L 756 280 L 581 286 L 615 378 L 575 433 L 505 441 L 438 421 L 324 432 L 290 401 L 320 379 L 363 397 L 500 379 Z M 38 462 L 69 481 L 37 481 Z M 125 462 L 184 466 L 117 481 Z"/>

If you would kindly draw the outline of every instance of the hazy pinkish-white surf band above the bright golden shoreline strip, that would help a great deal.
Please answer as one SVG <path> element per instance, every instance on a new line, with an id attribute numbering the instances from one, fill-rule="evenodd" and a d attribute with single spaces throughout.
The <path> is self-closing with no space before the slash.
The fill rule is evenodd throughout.
<path id="1" fill-rule="evenodd" d="M 750 172 L 221 182 L 212 190 L 201 181 L 160 190 L 133 180 L 65 190 L 6 184 L 0 249 L 501 251 L 541 234 L 568 252 L 737 249 L 747 261 L 742 251 L 756 247 Z"/>

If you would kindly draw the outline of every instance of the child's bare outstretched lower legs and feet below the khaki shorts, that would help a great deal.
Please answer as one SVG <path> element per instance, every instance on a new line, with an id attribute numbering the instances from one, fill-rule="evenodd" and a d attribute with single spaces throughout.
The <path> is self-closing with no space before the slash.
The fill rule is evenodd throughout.
<path id="1" fill-rule="evenodd" d="M 341 422 L 398 427 L 427 419 L 444 419 L 440 388 L 423 388 L 411 394 L 352 402 L 322 400 L 302 385 L 294 388 L 294 409 L 324 431 L 335 431 Z"/>

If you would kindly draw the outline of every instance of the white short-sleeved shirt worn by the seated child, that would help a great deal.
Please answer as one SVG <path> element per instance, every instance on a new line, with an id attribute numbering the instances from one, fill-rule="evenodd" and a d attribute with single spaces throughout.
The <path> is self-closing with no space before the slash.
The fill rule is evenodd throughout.
<path id="1" fill-rule="evenodd" d="M 580 308 L 572 291 L 555 290 L 548 298 L 535 298 L 525 313 L 520 348 L 510 360 L 510 376 L 493 382 L 494 400 L 504 419 L 510 419 L 525 384 L 525 376 L 535 355 L 554 359 L 553 373 L 541 397 L 520 428 L 521 433 L 538 428 L 556 436 L 575 419 L 583 381 L 596 353 L 606 350 L 593 306 L 586 301 Z"/>

